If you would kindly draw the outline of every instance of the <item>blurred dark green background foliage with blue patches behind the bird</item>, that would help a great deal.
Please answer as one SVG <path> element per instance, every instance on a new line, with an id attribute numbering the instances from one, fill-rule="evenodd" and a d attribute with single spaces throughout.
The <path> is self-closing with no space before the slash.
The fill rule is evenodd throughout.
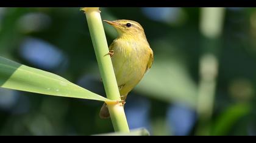
<path id="1" fill-rule="evenodd" d="M 154 63 L 129 94 L 129 127 L 151 135 L 256 135 L 256 8 L 100 8 L 139 22 Z M 108 45 L 117 34 L 104 24 Z M 0 56 L 105 96 L 79 8 L 0 8 Z M 0 88 L 0 135 L 113 131 L 102 102 Z"/>

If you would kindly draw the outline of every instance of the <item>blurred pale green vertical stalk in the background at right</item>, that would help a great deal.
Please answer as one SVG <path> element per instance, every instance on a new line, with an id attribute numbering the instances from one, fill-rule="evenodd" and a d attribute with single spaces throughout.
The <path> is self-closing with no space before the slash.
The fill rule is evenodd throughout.
<path id="1" fill-rule="evenodd" d="M 216 78 L 218 77 L 218 53 L 220 36 L 224 25 L 225 9 L 222 7 L 201 8 L 200 30 L 203 54 L 199 59 L 199 91 L 197 113 L 199 127 L 196 135 L 210 135 L 213 106 L 215 101 Z"/>

